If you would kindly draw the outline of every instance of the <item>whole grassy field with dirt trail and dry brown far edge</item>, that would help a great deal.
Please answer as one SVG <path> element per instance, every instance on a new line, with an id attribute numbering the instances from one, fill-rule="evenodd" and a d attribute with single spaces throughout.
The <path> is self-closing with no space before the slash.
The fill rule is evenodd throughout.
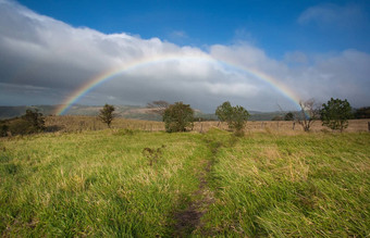
<path id="1" fill-rule="evenodd" d="M 1 236 L 370 236 L 369 133 L 64 120 L 0 140 Z"/>

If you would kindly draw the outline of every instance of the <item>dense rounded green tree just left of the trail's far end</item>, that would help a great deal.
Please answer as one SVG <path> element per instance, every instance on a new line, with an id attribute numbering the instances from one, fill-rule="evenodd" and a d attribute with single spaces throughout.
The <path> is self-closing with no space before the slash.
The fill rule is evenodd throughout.
<path id="1" fill-rule="evenodd" d="M 194 110 L 189 104 L 175 102 L 164 110 L 163 122 L 168 133 L 186 131 L 194 125 Z"/>

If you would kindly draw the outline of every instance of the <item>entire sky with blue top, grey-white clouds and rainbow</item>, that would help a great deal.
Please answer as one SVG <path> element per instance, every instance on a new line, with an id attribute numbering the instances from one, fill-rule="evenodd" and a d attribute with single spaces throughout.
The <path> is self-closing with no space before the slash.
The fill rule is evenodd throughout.
<path id="1" fill-rule="evenodd" d="M 367 0 L 0 0 L 0 105 L 359 108 L 369 38 Z"/>

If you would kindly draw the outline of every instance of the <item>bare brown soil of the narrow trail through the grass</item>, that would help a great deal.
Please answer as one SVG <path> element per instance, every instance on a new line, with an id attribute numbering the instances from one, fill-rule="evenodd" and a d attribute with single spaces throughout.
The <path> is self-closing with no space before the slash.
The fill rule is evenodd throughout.
<path id="1" fill-rule="evenodd" d="M 192 193 L 192 202 L 188 206 L 175 213 L 174 218 L 174 237 L 186 237 L 195 231 L 205 234 L 203 224 L 201 223 L 202 215 L 207 212 L 209 205 L 214 202 L 213 192 L 208 187 L 207 176 L 211 171 L 212 162 L 202 161 L 203 170 L 199 172 L 199 188 Z"/>

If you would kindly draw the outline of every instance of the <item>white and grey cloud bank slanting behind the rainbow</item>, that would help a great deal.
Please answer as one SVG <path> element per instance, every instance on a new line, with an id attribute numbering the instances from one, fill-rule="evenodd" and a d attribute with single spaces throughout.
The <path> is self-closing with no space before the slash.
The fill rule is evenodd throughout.
<path id="1" fill-rule="evenodd" d="M 300 21 L 313 16 L 308 10 Z M 285 89 L 300 99 L 322 102 L 331 97 L 346 98 L 355 107 L 370 101 L 370 55 L 355 49 L 286 52 L 279 61 L 248 42 L 203 50 L 72 27 L 7 0 L 0 0 L 0 102 L 4 105 L 59 104 L 97 75 L 140 61 L 146 63 L 94 88 L 78 103 L 146 104 L 162 99 L 212 112 L 230 100 L 248 110 L 296 109 Z M 163 61 L 163 55 L 173 60 Z M 269 75 L 285 89 L 250 72 Z"/>

